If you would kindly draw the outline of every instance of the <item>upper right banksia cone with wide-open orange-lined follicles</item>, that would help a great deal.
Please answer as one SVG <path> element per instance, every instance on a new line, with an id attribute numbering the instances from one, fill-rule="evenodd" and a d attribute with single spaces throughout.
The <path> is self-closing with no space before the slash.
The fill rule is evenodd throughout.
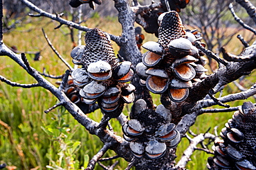
<path id="1" fill-rule="evenodd" d="M 140 84 L 155 94 L 164 95 L 174 102 L 188 97 L 192 83 L 205 78 L 203 52 L 193 44 L 200 34 L 185 30 L 176 11 L 165 12 L 158 18 L 158 42 L 143 44 L 148 51 L 142 63 L 136 65 Z"/>

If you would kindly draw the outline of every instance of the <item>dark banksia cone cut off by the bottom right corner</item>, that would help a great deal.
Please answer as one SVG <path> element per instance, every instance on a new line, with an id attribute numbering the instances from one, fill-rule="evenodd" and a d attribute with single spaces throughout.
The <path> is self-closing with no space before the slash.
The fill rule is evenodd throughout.
<path id="1" fill-rule="evenodd" d="M 244 103 L 221 129 L 222 140 L 214 141 L 214 157 L 208 169 L 256 169 L 256 108 Z"/>

